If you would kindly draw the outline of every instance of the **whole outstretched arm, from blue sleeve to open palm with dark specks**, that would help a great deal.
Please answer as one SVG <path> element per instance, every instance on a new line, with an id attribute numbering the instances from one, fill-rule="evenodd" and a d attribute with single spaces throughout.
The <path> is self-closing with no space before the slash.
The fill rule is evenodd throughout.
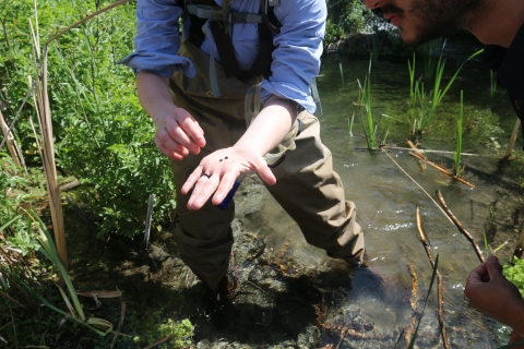
<path id="1" fill-rule="evenodd" d="M 217 191 L 212 202 L 215 205 L 221 204 L 233 188 L 235 179 L 248 171 L 257 171 L 267 184 L 274 183 L 274 176 L 263 161 L 263 155 L 279 144 L 290 131 L 298 105 L 309 112 L 314 112 L 310 85 L 320 70 L 325 2 L 282 1 L 281 5 L 274 9 L 274 13 L 282 27 L 281 34 L 274 37 L 276 49 L 273 52 L 272 74 L 261 84 L 264 109 L 235 146 L 217 151 L 204 158 L 184 183 L 182 193 L 189 193 L 194 185 L 188 203 L 190 209 L 202 207 L 215 189 Z M 234 28 L 233 33 L 240 32 Z M 230 161 L 230 152 L 239 155 L 235 164 Z M 228 156 L 227 161 L 225 156 Z M 202 177 L 203 173 L 211 178 Z"/>

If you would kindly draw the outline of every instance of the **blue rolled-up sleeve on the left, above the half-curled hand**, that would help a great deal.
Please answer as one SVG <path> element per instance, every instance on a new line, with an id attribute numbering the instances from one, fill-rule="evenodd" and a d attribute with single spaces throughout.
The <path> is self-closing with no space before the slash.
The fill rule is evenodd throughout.
<path id="1" fill-rule="evenodd" d="M 139 0 L 135 50 L 119 63 L 128 65 L 135 74 L 145 70 L 170 76 L 182 69 L 188 77 L 193 77 L 196 73 L 193 63 L 177 56 L 180 48 L 178 19 L 181 12 L 176 0 Z"/>

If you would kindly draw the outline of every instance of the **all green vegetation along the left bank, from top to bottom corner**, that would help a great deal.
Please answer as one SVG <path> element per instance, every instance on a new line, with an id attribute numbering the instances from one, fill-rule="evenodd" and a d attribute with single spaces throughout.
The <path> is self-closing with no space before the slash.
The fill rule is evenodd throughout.
<path id="1" fill-rule="evenodd" d="M 36 7 L 33 0 L 21 0 L 0 7 L 0 110 L 8 124 L 29 97 L 13 129 L 27 167 L 0 153 L 0 342 L 10 347 L 108 348 L 115 345 L 109 346 L 111 337 L 117 338 L 109 334 L 116 330 L 120 308 L 93 315 L 79 298 L 48 231 L 41 140 L 27 80 L 37 80 L 34 58 L 44 49 L 44 45 L 32 49 L 32 31 L 43 44 L 104 5 L 50 0 Z M 107 11 L 48 47 L 47 91 L 58 181 L 59 185 L 80 182 L 74 191 L 63 193 L 62 205 L 74 206 L 83 219 L 94 222 L 86 228 L 90 239 L 142 234 L 151 194 L 157 202 L 154 227 L 169 222 L 174 215 L 168 160 L 156 149 L 154 127 L 140 107 L 132 72 L 117 64 L 133 49 L 134 10 L 134 3 L 128 3 Z M 78 233 L 72 226 L 66 230 Z M 105 298 L 121 293 L 104 292 Z M 192 336 L 188 320 L 170 317 L 164 309 L 155 316 L 151 312 L 128 310 L 118 340 L 132 340 L 126 335 L 131 333 L 140 346 L 162 336 L 170 338 L 160 347 L 188 345 Z"/>

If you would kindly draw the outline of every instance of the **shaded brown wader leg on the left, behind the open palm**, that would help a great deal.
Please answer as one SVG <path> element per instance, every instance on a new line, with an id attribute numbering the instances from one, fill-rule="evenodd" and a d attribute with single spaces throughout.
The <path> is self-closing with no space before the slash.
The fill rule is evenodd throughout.
<path id="1" fill-rule="evenodd" d="M 181 98 L 177 106 L 188 110 L 204 131 L 206 146 L 199 155 L 190 154 L 183 160 L 170 160 L 177 191 L 177 214 L 179 222 L 175 227 L 175 241 L 182 261 L 211 289 L 215 290 L 226 275 L 233 246 L 230 224 L 235 218 L 235 203 L 224 210 L 211 203 L 200 209 L 187 208 L 191 192 L 182 195 L 180 189 L 201 159 L 215 149 L 231 146 L 236 136 L 245 130 L 245 121 L 225 122 L 207 111 L 191 108 Z M 237 129 L 242 129 L 238 130 Z"/>

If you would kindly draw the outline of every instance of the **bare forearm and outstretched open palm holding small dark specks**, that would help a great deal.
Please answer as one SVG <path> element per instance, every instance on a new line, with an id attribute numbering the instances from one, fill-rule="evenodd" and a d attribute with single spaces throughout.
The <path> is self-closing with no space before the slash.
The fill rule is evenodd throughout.
<path id="1" fill-rule="evenodd" d="M 213 193 L 213 204 L 221 204 L 235 180 L 250 171 L 259 173 L 266 184 L 274 184 L 276 179 L 263 156 L 289 133 L 296 117 L 295 101 L 277 96 L 270 97 L 262 111 L 233 147 L 216 151 L 204 157 L 188 178 L 181 189 L 182 194 L 187 194 L 194 186 L 188 208 L 201 208 Z"/>

